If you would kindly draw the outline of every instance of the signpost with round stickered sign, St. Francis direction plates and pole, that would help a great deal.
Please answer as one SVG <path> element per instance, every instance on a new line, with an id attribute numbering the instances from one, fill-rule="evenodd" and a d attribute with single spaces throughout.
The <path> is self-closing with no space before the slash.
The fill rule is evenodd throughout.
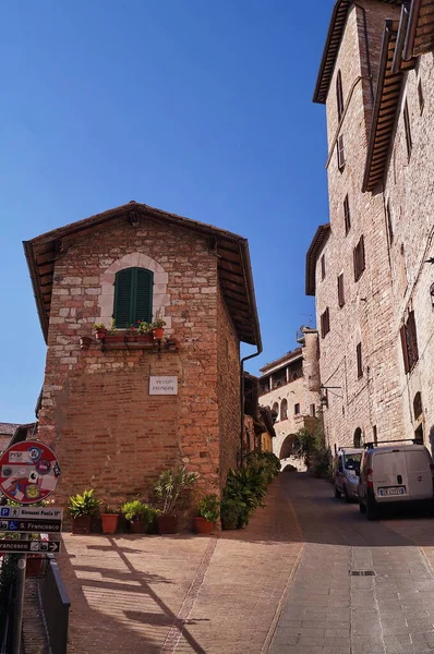
<path id="1" fill-rule="evenodd" d="M 19 533 L 21 541 L 0 538 L 0 552 L 22 553 L 17 562 L 15 617 L 11 654 L 20 654 L 27 552 L 60 552 L 59 542 L 28 541 L 28 532 L 60 533 L 62 510 L 49 507 L 26 508 L 47 499 L 58 485 L 60 465 L 56 453 L 44 443 L 24 440 L 0 457 L 0 492 L 20 506 L 0 507 L 0 531 Z"/>

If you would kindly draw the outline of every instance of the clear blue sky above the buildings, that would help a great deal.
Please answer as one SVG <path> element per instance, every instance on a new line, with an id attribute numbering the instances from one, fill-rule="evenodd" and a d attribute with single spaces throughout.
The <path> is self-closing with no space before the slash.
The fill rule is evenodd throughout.
<path id="1" fill-rule="evenodd" d="M 314 320 L 333 0 L 21 0 L 0 8 L 0 422 L 34 420 L 45 344 L 22 241 L 135 199 L 249 239 L 261 365 Z M 251 350 L 243 349 L 243 353 Z"/>

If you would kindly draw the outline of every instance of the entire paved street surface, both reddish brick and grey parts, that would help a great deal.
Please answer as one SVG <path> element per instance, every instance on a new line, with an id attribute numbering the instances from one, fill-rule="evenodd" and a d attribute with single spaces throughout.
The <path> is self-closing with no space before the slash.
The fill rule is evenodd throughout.
<path id="1" fill-rule="evenodd" d="M 242 531 L 64 535 L 69 652 L 434 652 L 433 525 L 367 522 L 328 483 L 282 473 Z"/>

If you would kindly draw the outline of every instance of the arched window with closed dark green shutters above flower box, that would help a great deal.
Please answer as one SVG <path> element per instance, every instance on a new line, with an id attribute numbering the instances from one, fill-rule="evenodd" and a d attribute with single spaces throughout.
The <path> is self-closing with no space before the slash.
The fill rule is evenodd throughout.
<path id="1" fill-rule="evenodd" d="M 124 268 L 116 274 L 113 318 L 120 329 L 153 319 L 154 272 L 146 268 Z"/>

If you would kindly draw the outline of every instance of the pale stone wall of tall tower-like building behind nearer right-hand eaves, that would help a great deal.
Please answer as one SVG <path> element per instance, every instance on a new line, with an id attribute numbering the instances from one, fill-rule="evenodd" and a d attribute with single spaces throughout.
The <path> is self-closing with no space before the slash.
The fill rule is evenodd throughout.
<path id="1" fill-rule="evenodd" d="M 384 21 L 399 14 L 397 8 L 364 0 L 366 9 L 369 56 L 377 74 Z M 367 130 L 372 95 L 367 73 L 363 12 L 352 8 L 337 57 L 327 99 L 328 145 L 336 136 L 338 116 L 336 76 L 341 71 L 343 100 L 350 97 L 341 128 L 346 166 L 339 171 L 336 152 L 328 167 L 328 193 L 331 233 L 324 247 L 325 278 L 321 257 L 316 268 L 316 314 L 328 307 L 330 331 L 321 338 L 321 380 L 328 390 L 328 409 L 324 411 L 329 445 L 352 445 L 357 428 L 365 440 L 376 428 L 378 439 L 402 435 L 401 397 L 397 360 L 397 335 L 394 323 L 391 270 L 387 257 L 387 232 L 383 195 L 362 194 Z M 346 233 L 343 202 L 348 194 L 351 227 Z M 365 270 L 354 280 L 353 250 L 364 238 Z M 343 274 L 345 305 L 339 307 L 337 278 Z M 358 376 L 357 346 L 362 344 L 362 376 Z"/>

